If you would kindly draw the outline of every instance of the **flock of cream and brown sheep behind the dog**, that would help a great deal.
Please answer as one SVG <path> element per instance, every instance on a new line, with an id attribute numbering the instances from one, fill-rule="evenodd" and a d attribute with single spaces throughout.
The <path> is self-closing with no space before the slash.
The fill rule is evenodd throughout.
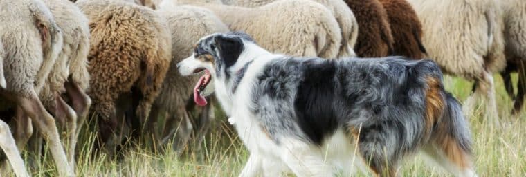
<path id="1" fill-rule="evenodd" d="M 77 137 L 91 114 L 109 153 L 129 120 L 133 136 L 152 133 L 165 144 L 175 135 L 178 151 L 192 134 L 202 138 L 211 104 L 188 101 L 197 77 L 181 77 L 176 64 L 215 32 L 244 31 L 267 50 L 295 56 L 429 57 L 475 81 L 464 111 L 482 103 L 495 124 L 493 74 L 502 72 L 515 113 L 526 93 L 523 0 L 2 0 L 0 7 L 0 146 L 17 176 L 29 176 L 19 151 L 33 126 L 59 175 L 74 176 Z"/>

